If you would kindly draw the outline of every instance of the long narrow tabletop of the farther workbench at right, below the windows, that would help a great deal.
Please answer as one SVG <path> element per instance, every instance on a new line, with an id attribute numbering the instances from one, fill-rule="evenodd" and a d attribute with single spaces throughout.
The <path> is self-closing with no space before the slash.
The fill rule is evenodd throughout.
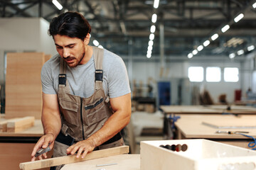
<path id="1" fill-rule="evenodd" d="M 256 114 L 252 106 L 208 105 L 208 106 L 160 106 L 166 114 Z"/>

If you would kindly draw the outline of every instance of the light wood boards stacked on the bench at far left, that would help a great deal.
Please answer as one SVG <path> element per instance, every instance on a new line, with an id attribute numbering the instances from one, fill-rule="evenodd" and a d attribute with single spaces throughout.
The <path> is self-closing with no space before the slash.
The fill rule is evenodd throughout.
<path id="1" fill-rule="evenodd" d="M 24 118 L 13 118 L 0 122 L 0 132 L 21 132 L 33 127 L 35 117 L 26 116 Z"/>

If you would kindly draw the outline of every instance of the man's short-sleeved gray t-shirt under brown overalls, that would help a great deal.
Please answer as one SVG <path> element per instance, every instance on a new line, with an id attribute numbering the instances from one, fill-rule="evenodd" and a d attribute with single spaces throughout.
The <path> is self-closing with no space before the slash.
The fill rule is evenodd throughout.
<path id="1" fill-rule="evenodd" d="M 44 94 L 58 94 L 58 74 L 60 55 L 48 60 L 41 71 L 42 90 Z M 103 57 L 103 89 L 105 95 L 115 98 L 131 92 L 127 69 L 121 57 L 104 49 Z M 67 81 L 70 84 L 70 93 L 88 98 L 95 91 L 95 64 L 94 57 L 86 64 L 77 67 L 68 67 Z"/>

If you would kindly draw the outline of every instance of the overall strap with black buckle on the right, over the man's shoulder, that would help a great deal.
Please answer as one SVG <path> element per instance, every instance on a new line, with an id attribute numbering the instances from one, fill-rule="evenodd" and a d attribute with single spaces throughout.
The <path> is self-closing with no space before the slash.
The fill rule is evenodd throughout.
<path id="1" fill-rule="evenodd" d="M 103 81 L 103 49 L 99 47 L 92 47 L 93 56 L 95 60 L 95 91 L 97 89 L 102 89 L 102 81 Z"/>

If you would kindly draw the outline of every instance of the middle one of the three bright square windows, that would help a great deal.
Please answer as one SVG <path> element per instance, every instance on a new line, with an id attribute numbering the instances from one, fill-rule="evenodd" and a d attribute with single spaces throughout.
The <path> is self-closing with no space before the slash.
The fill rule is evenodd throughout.
<path id="1" fill-rule="evenodd" d="M 206 81 L 219 82 L 221 79 L 220 67 L 207 67 L 206 68 Z"/>

